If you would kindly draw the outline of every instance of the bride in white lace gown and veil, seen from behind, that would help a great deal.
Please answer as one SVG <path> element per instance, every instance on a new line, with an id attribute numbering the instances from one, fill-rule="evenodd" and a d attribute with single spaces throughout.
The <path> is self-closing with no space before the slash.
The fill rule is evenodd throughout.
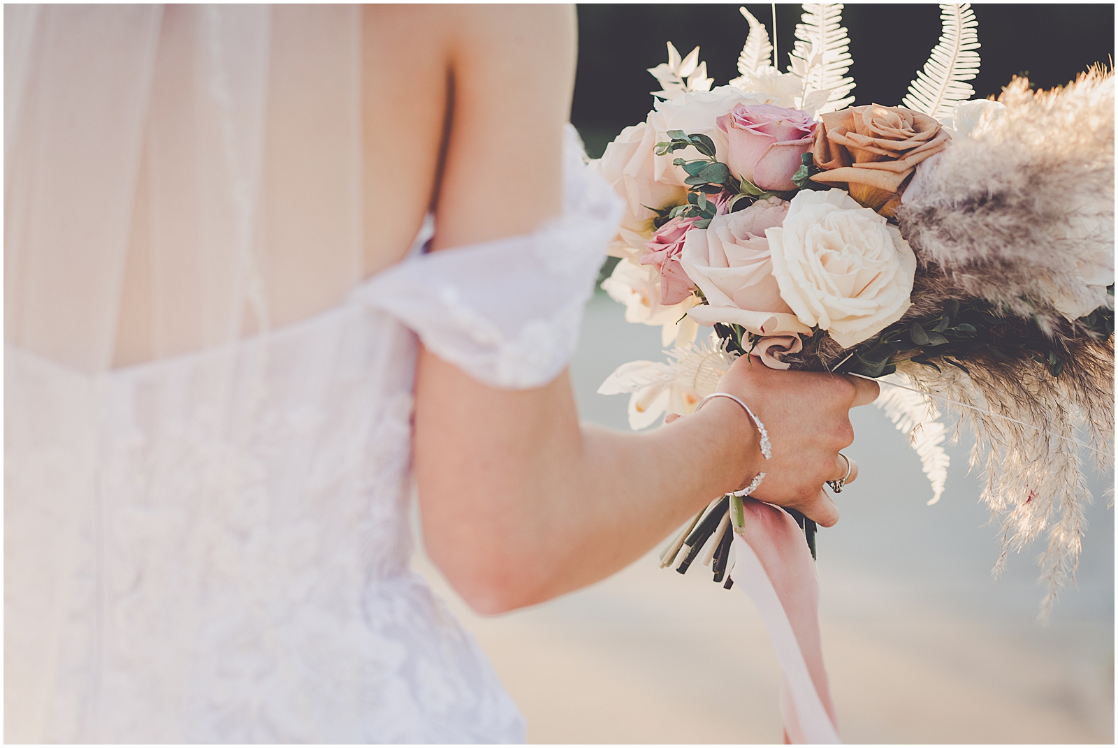
<path id="1" fill-rule="evenodd" d="M 413 480 L 486 614 L 751 481 L 727 398 L 578 423 L 617 214 L 574 64 L 569 7 L 4 8 L 6 740 L 523 740 Z M 877 386 L 722 389 L 759 498 L 834 523 Z"/>

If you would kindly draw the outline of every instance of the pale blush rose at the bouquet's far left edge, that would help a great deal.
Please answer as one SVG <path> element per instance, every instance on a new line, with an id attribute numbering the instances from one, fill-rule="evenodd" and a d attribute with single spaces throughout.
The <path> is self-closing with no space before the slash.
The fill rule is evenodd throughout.
<path id="1" fill-rule="evenodd" d="M 601 174 L 614 191 L 625 200 L 620 227 L 648 238 L 652 219 L 648 208 L 666 208 L 686 202 L 686 189 L 680 184 L 657 182 L 655 149 L 660 139 L 647 123 L 625 127 L 606 145 L 601 158 L 590 162 L 590 169 Z M 647 207 L 645 207 L 647 206 Z M 642 240 L 642 246 L 644 242 Z"/>

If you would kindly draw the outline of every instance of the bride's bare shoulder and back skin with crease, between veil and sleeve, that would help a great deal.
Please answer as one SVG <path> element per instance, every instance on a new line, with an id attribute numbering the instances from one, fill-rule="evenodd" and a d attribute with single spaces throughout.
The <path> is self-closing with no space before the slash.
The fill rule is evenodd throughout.
<path id="1" fill-rule="evenodd" d="M 556 212 L 576 28 L 572 6 L 366 6 L 367 272 L 400 258 L 428 206 L 436 247 Z"/>

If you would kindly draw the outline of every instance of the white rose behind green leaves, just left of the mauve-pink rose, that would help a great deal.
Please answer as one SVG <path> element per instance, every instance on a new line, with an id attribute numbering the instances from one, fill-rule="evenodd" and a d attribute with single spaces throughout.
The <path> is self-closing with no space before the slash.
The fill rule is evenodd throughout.
<path id="1" fill-rule="evenodd" d="M 695 133 L 707 135 L 714 141 L 718 160 L 724 163 L 727 138 L 716 120 L 738 104 L 764 104 L 768 98 L 765 94 L 746 93 L 732 86 L 719 86 L 713 91 L 691 91 L 671 101 L 657 101 L 656 108 L 648 113 L 648 126 L 655 131 L 660 141 L 671 140 L 667 136 L 669 130 L 682 130 L 689 135 Z M 672 162 L 675 159 L 693 161 L 707 157 L 693 148 L 685 148 L 654 158 L 656 181 L 683 186 L 688 172 L 683 171 L 682 167 L 673 165 Z"/>

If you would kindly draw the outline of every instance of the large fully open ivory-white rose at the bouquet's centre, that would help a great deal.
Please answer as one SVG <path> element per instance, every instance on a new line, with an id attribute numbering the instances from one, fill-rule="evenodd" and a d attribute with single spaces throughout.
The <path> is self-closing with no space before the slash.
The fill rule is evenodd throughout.
<path id="1" fill-rule="evenodd" d="M 868 340 L 911 305 L 916 255 L 901 233 L 842 190 L 802 190 L 784 226 L 765 231 L 780 296 L 843 348 Z"/>

